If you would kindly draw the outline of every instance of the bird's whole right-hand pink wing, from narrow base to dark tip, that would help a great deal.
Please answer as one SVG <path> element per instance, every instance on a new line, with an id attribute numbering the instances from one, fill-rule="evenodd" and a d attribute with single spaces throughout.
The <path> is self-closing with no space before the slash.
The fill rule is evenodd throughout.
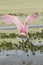
<path id="1" fill-rule="evenodd" d="M 31 14 L 31 15 L 27 16 L 27 18 L 25 20 L 25 23 L 24 23 L 26 32 L 28 32 L 28 23 L 34 21 L 37 18 L 37 16 L 38 16 L 38 13 L 34 13 L 34 14 Z"/>

